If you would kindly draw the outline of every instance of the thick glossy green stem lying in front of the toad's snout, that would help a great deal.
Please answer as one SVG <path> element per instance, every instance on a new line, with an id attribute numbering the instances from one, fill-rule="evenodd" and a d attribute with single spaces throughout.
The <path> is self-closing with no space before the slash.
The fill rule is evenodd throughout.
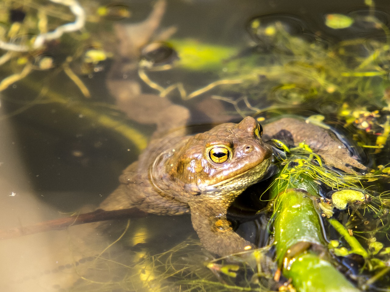
<path id="1" fill-rule="evenodd" d="M 279 177 L 288 171 L 289 167 L 285 167 Z M 324 254 L 327 251 L 321 221 L 311 199 L 318 192 L 313 179 L 301 174 L 277 182 L 280 183 L 271 188 L 271 197 L 275 198 L 276 256 L 279 264 L 284 265 L 283 275 L 291 279 L 298 292 L 358 292 L 326 256 L 308 249 L 313 245 Z"/>

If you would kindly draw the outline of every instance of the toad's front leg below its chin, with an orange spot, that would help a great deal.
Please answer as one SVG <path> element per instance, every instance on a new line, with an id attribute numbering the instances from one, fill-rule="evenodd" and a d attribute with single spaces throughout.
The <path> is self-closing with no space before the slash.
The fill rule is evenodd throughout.
<path id="1" fill-rule="evenodd" d="M 226 219 L 226 208 L 206 204 L 190 204 L 191 220 L 200 242 L 210 252 L 230 255 L 243 252 L 255 246 L 232 229 Z"/>

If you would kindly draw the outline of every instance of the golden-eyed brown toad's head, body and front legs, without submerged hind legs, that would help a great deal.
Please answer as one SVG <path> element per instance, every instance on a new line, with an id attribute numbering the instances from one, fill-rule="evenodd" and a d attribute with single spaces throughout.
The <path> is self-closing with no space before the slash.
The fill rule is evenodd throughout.
<path id="1" fill-rule="evenodd" d="M 365 169 L 332 132 L 294 118 L 262 127 L 252 117 L 184 135 L 173 132 L 151 141 L 120 177 L 121 185 L 100 205 L 106 211 L 137 207 L 147 213 L 191 213 L 193 228 L 210 252 L 228 255 L 254 248 L 227 220 L 227 209 L 272 165 L 272 138 L 305 141 L 323 161 L 343 171 Z"/>

